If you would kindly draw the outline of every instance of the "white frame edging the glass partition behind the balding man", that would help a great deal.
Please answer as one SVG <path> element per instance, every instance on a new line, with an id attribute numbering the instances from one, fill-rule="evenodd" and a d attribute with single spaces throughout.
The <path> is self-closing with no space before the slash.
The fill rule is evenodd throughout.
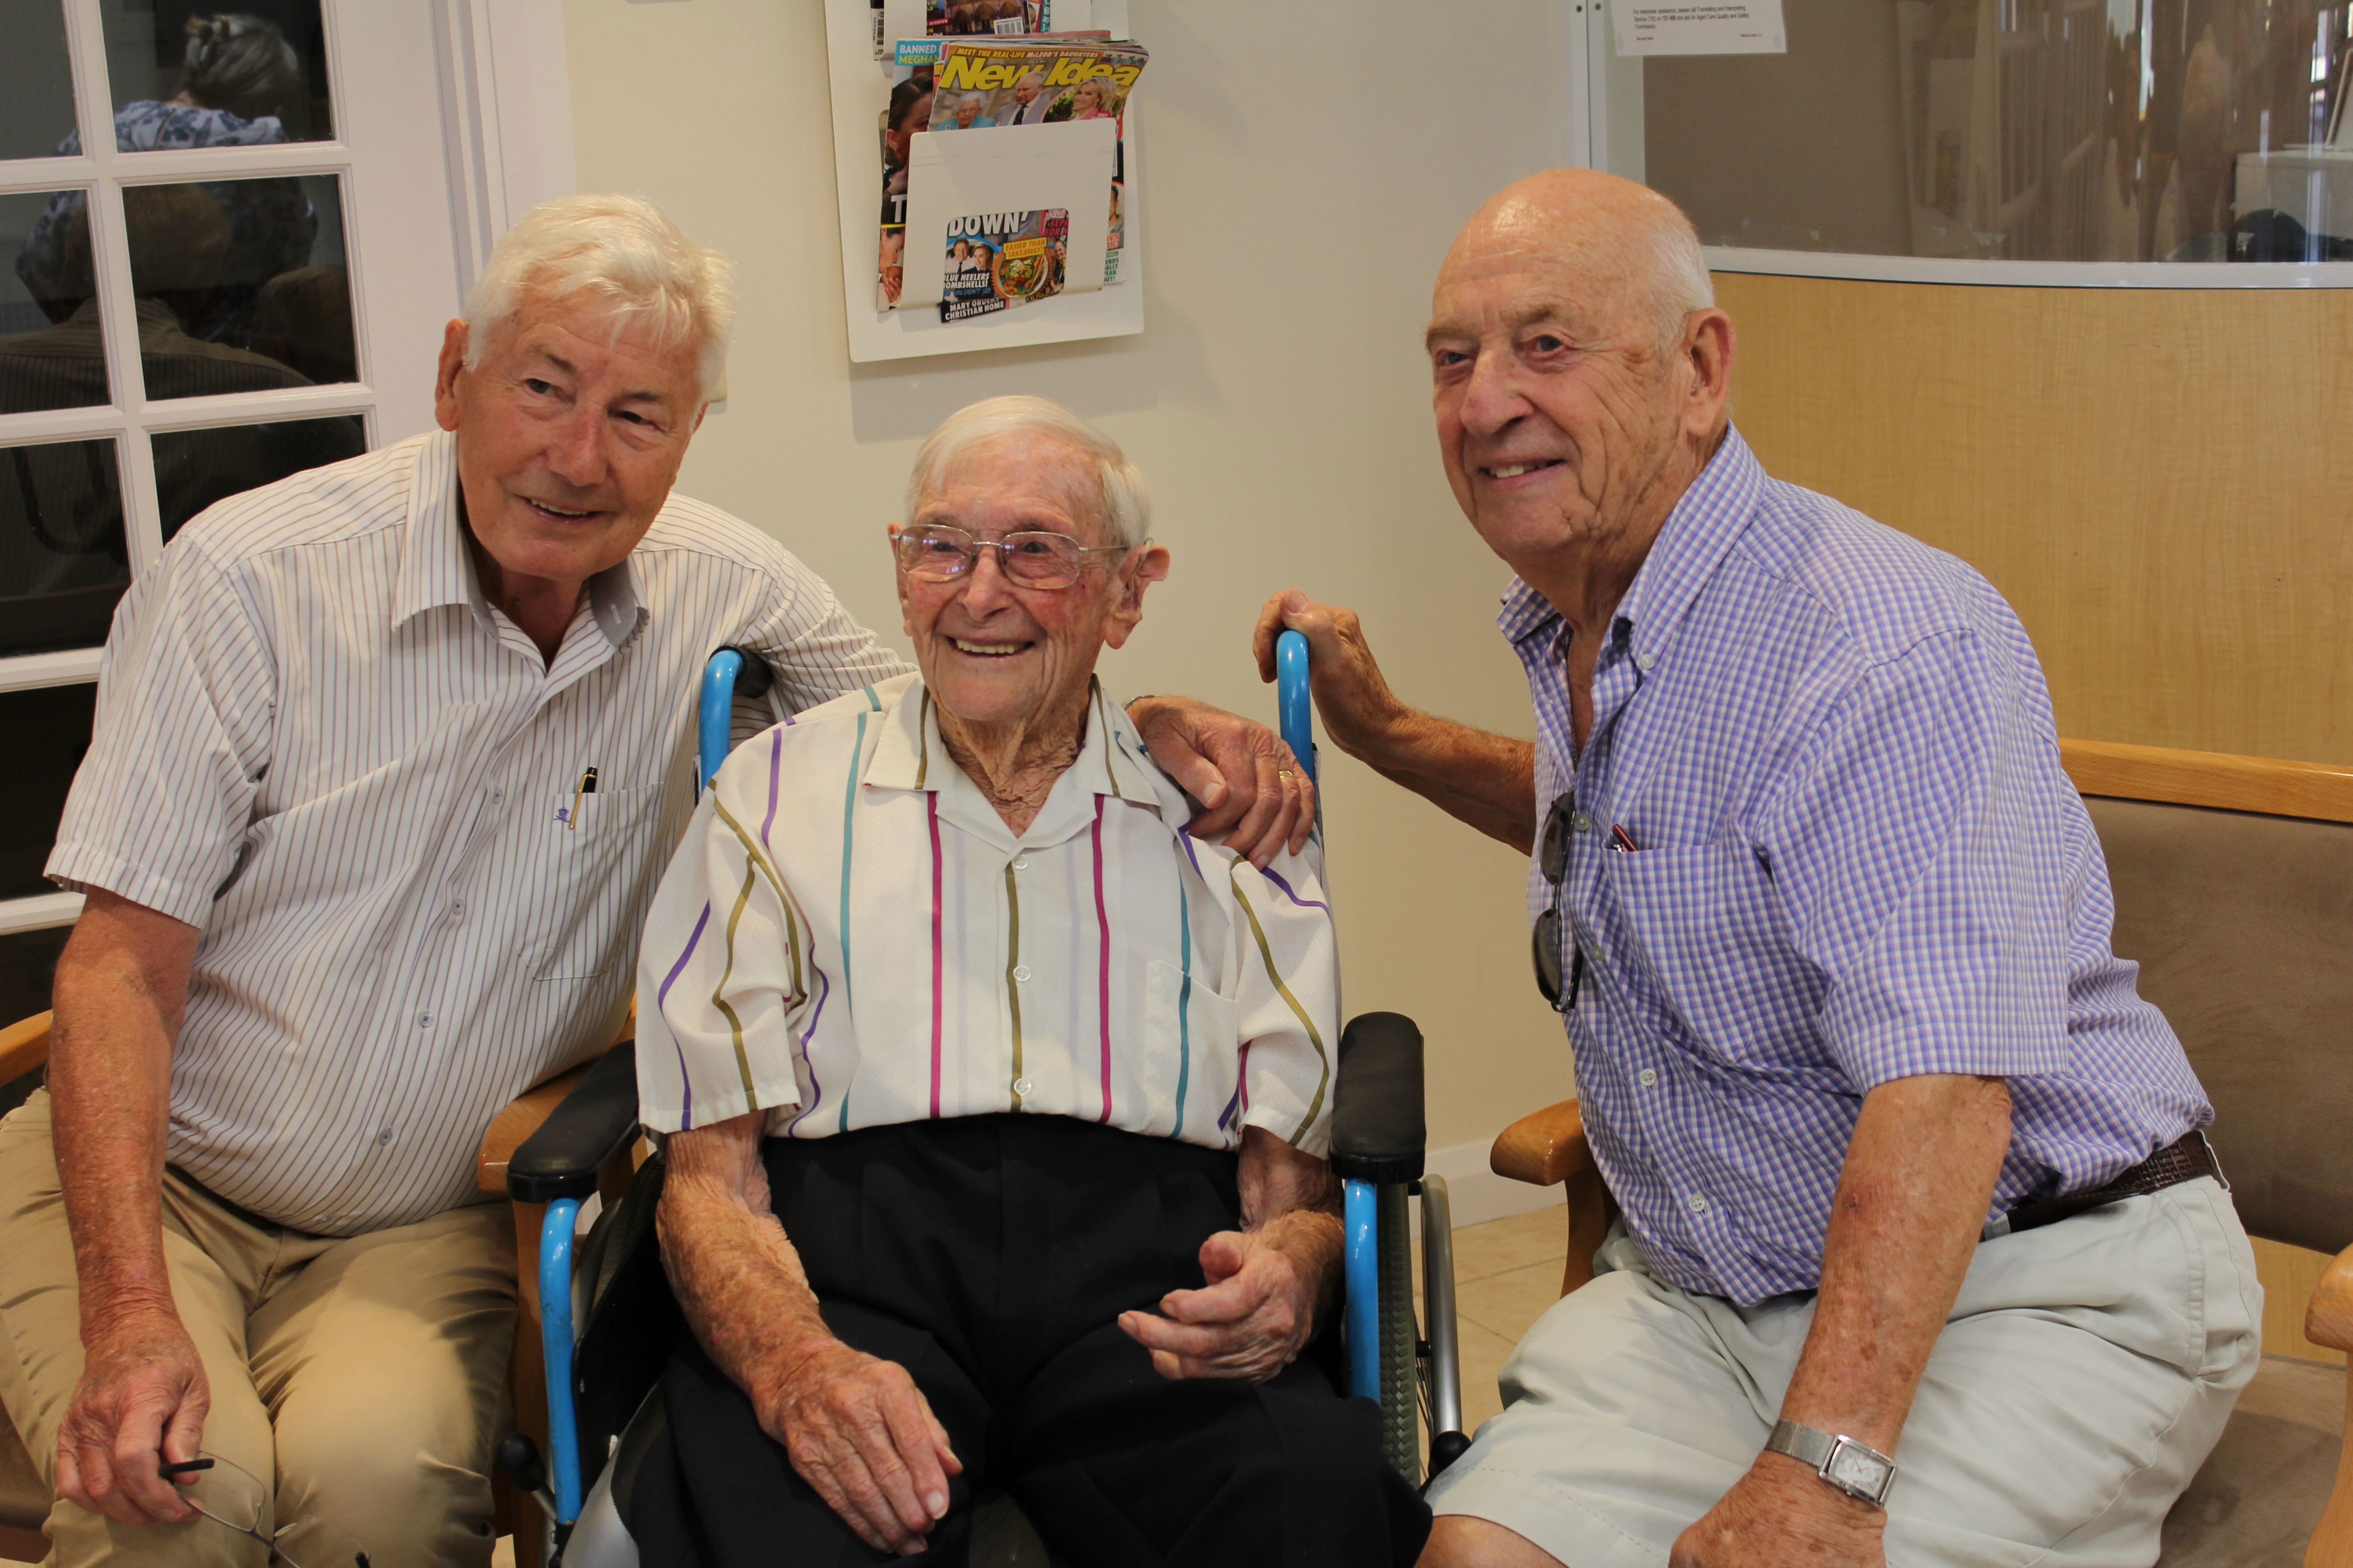
<path id="1" fill-rule="evenodd" d="M 1607 0 L 1577 0 L 1569 26 L 1569 162 L 1642 179 L 1642 61 L 1621 59 Z M 1967 282 L 2012 289 L 2353 289 L 2353 261 L 1977 261 L 1769 252 L 1708 244 L 1713 273 Z"/>

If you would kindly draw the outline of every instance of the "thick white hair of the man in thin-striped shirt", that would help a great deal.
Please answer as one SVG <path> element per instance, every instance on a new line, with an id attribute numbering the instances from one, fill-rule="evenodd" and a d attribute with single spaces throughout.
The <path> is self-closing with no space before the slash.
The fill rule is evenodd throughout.
<path id="1" fill-rule="evenodd" d="M 647 322 L 654 341 L 692 341 L 704 402 L 727 395 L 734 263 L 689 240 L 661 207 L 633 195 L 558 195 L 508 228 L 466 292 L 466 364 L 532 296 L 595 296 L 614 327 Z"/>

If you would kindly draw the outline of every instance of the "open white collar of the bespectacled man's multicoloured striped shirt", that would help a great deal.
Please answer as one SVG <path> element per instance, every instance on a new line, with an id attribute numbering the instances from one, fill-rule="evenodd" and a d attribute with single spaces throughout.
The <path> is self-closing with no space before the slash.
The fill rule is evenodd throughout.
<path id="1" fill-rule="evenodd" d="M 939 705 L 920 675 L 906 684 L 885 715 L 882 736 L 875 741 L 859 783 L 875 790 L 934 792 L 944 818 L 984 839 L 1014 844 L 1005 818 L 948 757 L 948 745 L 939 738 Z M 1078 757 L 1054 780 L 1054 790 L 1021 842 L 1056 844 L 1071 837 L 1094 820 L 1096 797 L 1146 806 L 1179 830 L 1191 816 L 1184 790 L 1146 759 L 1144 738 L 1129 724 L 1127 710 L 1104 691 L 1101 679 L 1089 677 L 1087 736 L 1080 741 Z"/>

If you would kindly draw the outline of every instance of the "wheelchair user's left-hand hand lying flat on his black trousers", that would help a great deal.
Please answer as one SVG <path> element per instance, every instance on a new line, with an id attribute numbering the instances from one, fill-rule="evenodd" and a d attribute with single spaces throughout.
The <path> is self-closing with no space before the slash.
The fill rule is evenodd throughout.
<path id="1" fill-rule="evenodd" d="M 913 1556 L 962 1462 L 906 1368 L 826 1340 L 753 1392 L 800 1479 L 878 1552 Z"/>

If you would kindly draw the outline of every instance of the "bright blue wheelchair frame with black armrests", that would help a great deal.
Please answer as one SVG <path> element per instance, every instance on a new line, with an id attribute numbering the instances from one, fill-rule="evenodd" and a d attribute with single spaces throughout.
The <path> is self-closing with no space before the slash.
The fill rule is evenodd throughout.
<path id="1" fill-rule="evenodd" d="M 1282 632 L 1275 651 L 1282 738 L 1308 780 L 1318 778 L 1308 644 Z M 696 696 L 696 790 L 727 759 L 734 698 L 767 691 L 769 670 L 739 649 L 711 656 Z M 1315 837 L 1322 839 L 1318 797 Z M 532 1493 L 553 1523 L 560 1563 L 581 1521 L 584 1474 L 579 1403 L 588 1394 L 576 1371 L 584 1324 L 574 1321 L 579 1211 L 598 1171 L 638 1135 L 635 1046 L 605 1053 L 515 1150 L 506 1185 L 515 1201 L 546 1204 L 539 1232 L 539 1342 L 548 1380 L 546 1467 L 520 1434 L 499 1446 L 499 1465 Z M 1454 1321 L 1454 1246 L 1445 1178 L 1424 1173 L 1421 1032 L 1400 1013 L 1353 1018 L 1339 1041 L 1332 1091 L 1332 1171 L 1344 1182 L 1344 1309 L 1348 1392 L 1381 1406 L 1381 1448 L 1414 1483 L 1424 1481 L 1421 1432 L 1428 1420 L 1428 1474 L 1445 1469 L 1471 1439 L 1461 1432 L 1461 1363 Z M 1409 1204 L 1421 1201 L 1424 1321 L 1414 1319 Z M 1424 1335 L 1426 1328 L 1426 1335 Z M 619 1443 L 619 1432 L 609 1434 Z M 607 1455 L 593 1455 L 602 1472 Z"/>

